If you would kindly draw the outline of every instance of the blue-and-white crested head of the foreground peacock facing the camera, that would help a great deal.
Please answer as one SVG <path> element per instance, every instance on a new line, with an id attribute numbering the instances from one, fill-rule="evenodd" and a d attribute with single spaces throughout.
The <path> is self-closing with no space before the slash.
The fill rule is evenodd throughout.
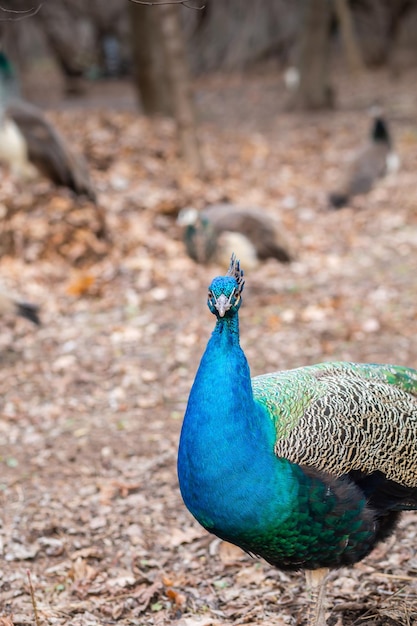
<path id="1" fill-rule="evenodd" d="M 244 285 L 243 270 L 232 254 L 226 276 L 217 276 L 209 287 L 207 304 L 210 311 L 218 318 L 236 314 L 242 304 Z"/>

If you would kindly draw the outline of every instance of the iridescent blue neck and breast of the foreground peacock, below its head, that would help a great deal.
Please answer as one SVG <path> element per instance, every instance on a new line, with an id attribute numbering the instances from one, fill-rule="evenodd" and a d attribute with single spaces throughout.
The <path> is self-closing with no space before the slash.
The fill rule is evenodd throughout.
<path id="1" fill-rule="evenodd" d="M 237 314 L 220 319 L 191 389 L 178 456 L 184 502 L 203 526 L 227 539 L 287 514 L 286 496 L 279 504 L 274 497 L 283 480 L 274 441 L 273 422 L 253 399 Z"/>

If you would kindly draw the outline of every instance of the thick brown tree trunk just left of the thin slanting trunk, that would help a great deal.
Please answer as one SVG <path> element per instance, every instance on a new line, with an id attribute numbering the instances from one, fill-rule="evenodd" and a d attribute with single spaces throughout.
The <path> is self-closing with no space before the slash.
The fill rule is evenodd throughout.
<path id="1" fill-rule="evenodd" d="M 135 84 L 146 115 L 173 115 L 159 7 L 128 2 Z"/>

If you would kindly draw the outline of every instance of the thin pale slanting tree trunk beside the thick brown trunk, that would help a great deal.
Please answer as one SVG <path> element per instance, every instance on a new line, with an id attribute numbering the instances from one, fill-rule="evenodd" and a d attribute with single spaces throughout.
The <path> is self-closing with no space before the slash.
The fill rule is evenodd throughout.
<path id="1" fill-rule="evenodd" d="M 181 153 L 187 164 L 201 174 L 202 161 L 180 10 L 179 6 L 173 4 L 164 4 L 157 8 Z"/>

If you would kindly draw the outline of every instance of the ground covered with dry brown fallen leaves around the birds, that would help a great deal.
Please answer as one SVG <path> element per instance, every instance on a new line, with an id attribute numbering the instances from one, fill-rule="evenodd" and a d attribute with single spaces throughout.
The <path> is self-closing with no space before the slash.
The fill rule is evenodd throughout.
<path id="1" fill-rule="evenodd" d="M 39 329 L 1 322 L 2 626 L 35 622 L 28 572 L 40 624 L 305 621 L 303 575 L 209 536 L 179 495 L 181 419 L 214 323 L 206 288 L 223 270 L 187 258 L 175 218 L 230 200 L 281 220 L 294 262 L 247 272 L 253 374 L 329 359 L 416 366 L 416 78 L 341 80 L 340 107 L 309 116 L 285 109 L 276 73 L 205 81 L 204 180 L 178 159 L 171 122 L 105 97 L 64 103 L 49 115 L 85 153 L 98 209 L 2 172 L 1 282 L 42 317 Z M 128 87 L 119 93 L 133 105 Z M 374 98 L 402 169 L 330 211 L 339 159 L 366 135 Z M 416 533 L 406 514 L 395 537 L 332 574 L 329 624 L 417 619 Z"/>

